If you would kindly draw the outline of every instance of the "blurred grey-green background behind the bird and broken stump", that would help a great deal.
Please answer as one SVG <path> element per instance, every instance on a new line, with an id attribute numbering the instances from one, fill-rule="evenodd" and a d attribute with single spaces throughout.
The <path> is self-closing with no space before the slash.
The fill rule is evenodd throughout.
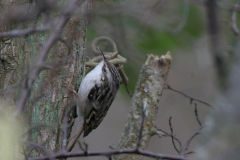
<path id="1" fill-rule="evenodd" d="M 191 2 L 187 0 L 94 1 L 93 14 L 87 30 L 88 55 L 92 56 L 93 39 L 99 36 L 113 39 L 119 53 L 127 58 L 123 69 L 129 78 L 129 88 L 132 93 L 146 54 L 160 56 L 171 51 L 173 60 L 167 84 L 192 97 L 213 103 L 217 86 L 215 66 L 209 49 L 207 14 L 201 1 Z M 225 7 L 235 3 L 227 0 L 218 2 L 220 5 L 226 5 Z M 222 41 L 227 46 L 224 51 L 231 54 L 232 46 L 237 41 L 230 27 L 232 12 L 223 9 L 219 11 Z M 104 49 L 104 51 L 110 50 L 111 48 Z M 84 139 L 90 149 L 116 147 L 127 119 L 130 103 L 131 98 L 122 85 L 102 124 Z M 197 103 L 197 108 L 199 118 L 204 123 L 209 107 Z M 174 134 L 183 144 L 199 128 L 194 115 L 194 103 L 190 104 L 190 99 L 182 95 L 164 90 L 156 126 L 170 132 L 168 125 L 170 116 L 173 117 Z M 193 140 L 189 151 L 194 151 L 194 142 L 199 137 L 201 135 Z M 148 150 L 177 154 L 170 138 L 157 136 L 151 139 Z"/>

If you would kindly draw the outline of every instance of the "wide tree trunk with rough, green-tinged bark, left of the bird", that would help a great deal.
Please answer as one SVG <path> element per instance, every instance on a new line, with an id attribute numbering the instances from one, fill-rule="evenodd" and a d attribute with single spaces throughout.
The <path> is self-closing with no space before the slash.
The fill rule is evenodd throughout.
<path id="1" fill-rule="evenodd" d="M 63 138 L 63 117 L 74 104 L 72 89 L 77 90 L 84 74 L 86 53 L 86 30 L 89 23 L 89 6 L 92 1 L 87 0 L 76 13 L 68 19 L 61 41 L 56 42 L 47 55 L 44 66 L 50 70 L 42 71 L 31 90 L 27 105 L 23 113 L 28 127 L 28 140 L 42 144 L 50 152 L 61 149 Z M 62 3 L 63 4 L 63 3 Z M 2 2 L 5 10 L 11 10 L 9 1 Z M 64 8 L 64 5 L 62 6 Z M 46 16 L 57 19 L 59 16 L 49 13 L 38 17 L 42 25 Z M 61 15 L 60 15 L 61 16 Z M 35 22 L 24 23 L 25 27 L 33 27 Z M 14 27 L 12 27 L 14 28 Z M 10 30 L 9 26 L 2 31 Z M 54 28 L 52 30 L 54 32 Z M 21 83 L 36 63 L 37 54 L 51 32 L 29 35 L 27 37 L 6 38 L 1 41 L 0 51 L 0 89 L 2 96 L 16 101 L 19 96 Z M 73 118 L 68 119 L 68 136 L 73 126 Z M 41 156 L 39 150 L 29 152 L 32 157 Z"/>

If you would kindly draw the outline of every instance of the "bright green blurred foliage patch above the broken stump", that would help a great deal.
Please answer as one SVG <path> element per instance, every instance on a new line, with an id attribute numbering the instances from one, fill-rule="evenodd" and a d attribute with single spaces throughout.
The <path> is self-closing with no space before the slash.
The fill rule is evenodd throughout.
<path id="1" fill-rule="evenodd" d="M 173 31 L 160 31 L 155 28 L 148 28 L 143 40 L 137 43 L 137 45 L 146 52 L 160 52 L 162 54 L 176 48 L 188 47 L 202 35 L 203 22 L 199 8 L 194 5 L 189 6 L 189 13 L 186 16 L 187 21 L 182 31 L 174 33 Z M 172 28 L 174 30 L 174 27 Z M 139 41 L 139 39 L 136 40 Z"/>

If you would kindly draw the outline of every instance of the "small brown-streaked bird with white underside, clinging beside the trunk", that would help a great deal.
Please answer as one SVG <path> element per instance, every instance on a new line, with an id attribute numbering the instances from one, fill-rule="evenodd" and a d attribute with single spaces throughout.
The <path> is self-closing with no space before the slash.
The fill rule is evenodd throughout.
<path id="1" fill-rule="evenodd" d="M 103 60 L 83 78 L 78 90 L 77 114 L 81 127 L 77 139 L 82 132 L 83 137 L 86 137 L 99 126 L 120 86 L 121 77 L 117 68 L 106 59 L 99 47 L 98 49 Z"/>

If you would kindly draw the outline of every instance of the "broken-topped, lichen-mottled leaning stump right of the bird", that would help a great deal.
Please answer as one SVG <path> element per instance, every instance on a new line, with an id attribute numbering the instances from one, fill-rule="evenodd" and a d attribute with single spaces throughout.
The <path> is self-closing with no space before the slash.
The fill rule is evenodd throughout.
<path id="1" fill-rule="evenodd" d="M 155 119 L 170 65 L 170 53 L 161 57 L 147 56 L 134 91 L 127 123 L 117 148 L 135 148 L 139 145 L 139 148 L 145 149 L 149 139 L 157 134 Z M 144 123 L 142 123 L 143 117 Z M 142 156 L 118 155 L 114 158 L 116 160 L 139 160 L 142 159 Z"/>

